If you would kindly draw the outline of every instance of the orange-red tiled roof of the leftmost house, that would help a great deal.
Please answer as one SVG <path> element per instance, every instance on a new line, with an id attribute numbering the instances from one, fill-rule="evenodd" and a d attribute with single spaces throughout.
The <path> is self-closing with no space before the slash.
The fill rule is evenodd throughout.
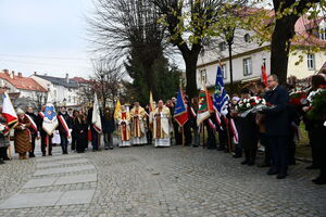
<path id="1" fill-rule="evenodd" d="M 23 76 L 10 76 L 3 72 L 0 73 L 0 78 L 7 80 L 12 86 L 21 90 L 30 90 L 30 91 L 39 91 L 39 92 L 47 92 L 47 89 L 41 87 L 36 80 L 28 77 Z"/>

